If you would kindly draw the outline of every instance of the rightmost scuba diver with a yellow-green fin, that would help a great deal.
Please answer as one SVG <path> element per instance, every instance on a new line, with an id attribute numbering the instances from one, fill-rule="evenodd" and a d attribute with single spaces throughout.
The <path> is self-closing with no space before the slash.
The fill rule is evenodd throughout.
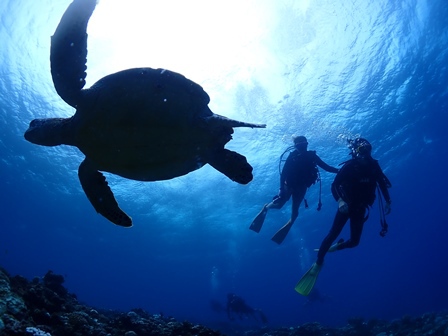
<path id="1" fill-rule="evenodd" d="M 322 241 L 320 248 L 316 249 L 318 252 L 316 262 L 295 287 L 295 290 L 302 295 L 308 295 L 313 289 L 327 252 L 358 246 L 364 223 L 369 218 L 369 208 L 375 202 L 375 191 L 377 189 L 379 190 L 378 202 L 382 227 L 380 235 L 384 237 L 387 233 L 388 225 L 385 216 L 391 211 L 388 188 L 392 185 L 384 175 L 378 161 L 372 158 L 372 145 L 366 139 L 349 140 L 349 148 L 351 149 L 352 159 L 343 163 L 331 185 L 333 197 L 338 202 L 333 226 Z M 381 195 L 386 202 L 385 206 Z M 349 219 L 350 238 L 346 241 L 340 239 L 332 245 Z"/>

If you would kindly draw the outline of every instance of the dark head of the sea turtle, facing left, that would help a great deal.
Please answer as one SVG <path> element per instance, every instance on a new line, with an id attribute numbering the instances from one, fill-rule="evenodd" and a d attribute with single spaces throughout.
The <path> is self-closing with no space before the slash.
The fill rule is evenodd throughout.
<path id="1" fill-rule="evenodd" d="M 65 132 L 65 125 L 70 119 L 48 118 L 34 119 L 25 132 L 25 139 L 36 145 L 59 146 L 67 143 L 70 132 Z"/>

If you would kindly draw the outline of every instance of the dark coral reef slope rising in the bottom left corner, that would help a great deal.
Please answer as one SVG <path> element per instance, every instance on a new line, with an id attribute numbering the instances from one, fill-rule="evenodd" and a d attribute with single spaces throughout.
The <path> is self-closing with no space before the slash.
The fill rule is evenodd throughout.
<path id="1" fill-rule="evenodd" d="M 201 325 L 178 322 L 141 309 L 101 311 L 80 304 L 63 286 L 64 277 L 49 271 L 28 281 L 0 268 L 0 335 L 27 336 L 218 336 Z"/>

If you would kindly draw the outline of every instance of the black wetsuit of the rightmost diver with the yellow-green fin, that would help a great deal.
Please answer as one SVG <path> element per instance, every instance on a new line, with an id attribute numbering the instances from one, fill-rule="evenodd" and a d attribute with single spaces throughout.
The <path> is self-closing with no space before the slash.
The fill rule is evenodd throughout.
<path id="1" fill-rule="evenodd" d="M 350 219 L 350 239 L 339 244 L 338 250 L 355 247 L 359 244 L 364 222 L 367 220 L 366 210 L 375 202 L 377 183 L 385 201 L 390 203 L 390 195 L 387 190 L 390 187 L 390 182 L 378 161 L 371 157 L 352 159 L 340 169 L 331 186 L 331 192 L 335 200 L 342 198 L 347 203 L 348 213 L 342 213 L 339 210 L 336 212 L 333 226 L 319 248 L 317 264 L 323 264 L 325 254 L 341 233 L 348 219 Z"/>

